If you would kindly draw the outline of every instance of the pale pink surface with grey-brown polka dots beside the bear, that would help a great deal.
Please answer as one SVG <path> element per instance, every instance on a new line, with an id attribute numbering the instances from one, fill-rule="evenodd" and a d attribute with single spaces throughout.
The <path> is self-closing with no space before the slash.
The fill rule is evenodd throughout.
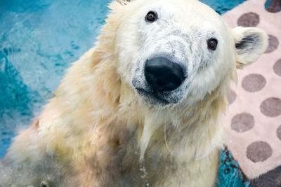
<path id="1" fill-rule="evenodd" d="M 281 186 L 281 0 L 249 0 L 223 15 L 269 36 L 261 58 L 238 70 L 223 119 L 226 146 L 254 186 Z"/>

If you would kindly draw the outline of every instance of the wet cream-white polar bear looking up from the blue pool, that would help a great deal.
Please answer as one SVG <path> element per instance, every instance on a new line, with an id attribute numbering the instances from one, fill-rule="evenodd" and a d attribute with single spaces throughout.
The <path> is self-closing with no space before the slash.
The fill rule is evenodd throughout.
<path id="1" fill-rule="evenodd" d="M 219 119 L 237 68 L 266 50 L 197 0 L 113 1 L 73 66 L 1 160 L 0 186 L 214 186 Z"/>

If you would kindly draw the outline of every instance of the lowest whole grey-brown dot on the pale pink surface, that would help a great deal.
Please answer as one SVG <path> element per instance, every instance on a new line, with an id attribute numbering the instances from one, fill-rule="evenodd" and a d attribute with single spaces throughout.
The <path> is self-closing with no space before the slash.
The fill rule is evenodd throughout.
<path id="1" fill-rule="evenodd" d="M 253 162 L 263 162 L 270 158 L 272 153 L 272 148 L 264 141 L 255 141 L 247 147 L 247 158 Z"/>

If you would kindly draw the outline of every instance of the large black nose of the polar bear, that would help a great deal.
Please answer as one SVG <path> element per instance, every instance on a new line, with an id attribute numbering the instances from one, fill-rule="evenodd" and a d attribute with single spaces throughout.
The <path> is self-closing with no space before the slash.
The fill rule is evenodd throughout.
<path id="1" fill-rule="evenodd" d="M 175 90 L 185 77 L 183 69 L 165 57 L 156 57 L 145 62 L 145 79 L 153 90 Z"/>

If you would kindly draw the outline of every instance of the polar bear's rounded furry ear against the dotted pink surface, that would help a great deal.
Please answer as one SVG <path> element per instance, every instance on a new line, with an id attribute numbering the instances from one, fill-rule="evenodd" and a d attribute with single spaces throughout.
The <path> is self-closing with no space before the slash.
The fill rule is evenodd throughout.
<path id="1" fill-rule="evenodd" d="M 233 29 L 237 52 L 236 67 L 243 67 L 258 60 L 268 47 L 268 35 L 255 27 L 236 27 Z"/>

